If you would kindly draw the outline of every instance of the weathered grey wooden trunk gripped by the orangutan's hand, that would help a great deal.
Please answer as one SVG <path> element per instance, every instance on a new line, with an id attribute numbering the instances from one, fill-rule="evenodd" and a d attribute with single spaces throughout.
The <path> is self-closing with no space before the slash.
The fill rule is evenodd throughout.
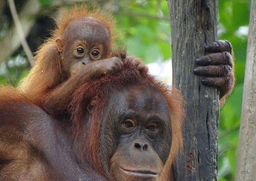
<path id="1" fill-rule="evenodd" d="M 217 175 L 219 90 L 202 85 L 193 70 L 217 40 L 217 0 L 167 0 L 171 16 L 173 85 L 186 101 L 184 154 L 175 163 L 176 181 L 213 181 Z"/>

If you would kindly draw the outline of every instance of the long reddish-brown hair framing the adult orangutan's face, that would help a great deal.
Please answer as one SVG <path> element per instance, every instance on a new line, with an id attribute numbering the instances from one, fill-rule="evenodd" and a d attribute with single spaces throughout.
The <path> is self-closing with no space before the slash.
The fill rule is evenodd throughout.
<path id="1" fill-rule="evenodd" d="M 95 79 L 86 82 L 81 86 L 73 95 L 73 100 L 70 104 L 70 113 L 72 114 L 72 122 L 74 129 L 75 140 L 87 140 L 86 143 L 79 142 L 81 157 L 92 158 L 90 161 L 94 168 L 103 173 L 101 169 L 101 160 L 99 155 L 100 146 L 100 126 L 102 113 L 107 104 L 110 94 L 114 90 L 119 90 L 124 86 L 133 83 L 147 83 L 154 85 L 165 97 L 171 114 L 172 124 L 172 146 L 169 159 L 164 167 L 163 180 L 168 178 L 170 167 L 174 162 L 174 157 L 182 149 L 182 120 L 184 116 L 183 99 L 175 88 L 163 84 L 161 81 L 156 80 L 148 73 L 140 73 L 133 65 L 126 64 L 124 69 L 118 73 L 114 73 L 100 79 Z M 83 118 L 85 111 L 91 100 L 96 102 L 93 106 L 91 115 L 91 127 L 88 131 L 89 134 L 81 135 Z M 90 154 L 90 156 L 88 156 Z"/>

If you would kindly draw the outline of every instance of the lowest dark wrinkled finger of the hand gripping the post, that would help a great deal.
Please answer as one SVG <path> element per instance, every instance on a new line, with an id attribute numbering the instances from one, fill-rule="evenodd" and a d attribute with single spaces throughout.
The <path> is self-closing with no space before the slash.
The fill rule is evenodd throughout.
<path id="1" fill-rule="evenodd" d="M 230 77 L 208 77 L 202 80 L 202 84 L 215 87 L 229 87 L 232 84 Z"/>

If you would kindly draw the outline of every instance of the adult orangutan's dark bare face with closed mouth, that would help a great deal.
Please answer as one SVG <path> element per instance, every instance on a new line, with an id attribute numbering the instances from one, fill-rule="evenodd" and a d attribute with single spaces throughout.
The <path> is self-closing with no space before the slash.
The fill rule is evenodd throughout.
<path id="1" fill-rule="evenodd" d="M 147 85 L 113 95 L 101 126 L 103 169 L 110 170 L 117 181 L 158 180 L 171 148 L 171 117 L 165 99 Z"/>

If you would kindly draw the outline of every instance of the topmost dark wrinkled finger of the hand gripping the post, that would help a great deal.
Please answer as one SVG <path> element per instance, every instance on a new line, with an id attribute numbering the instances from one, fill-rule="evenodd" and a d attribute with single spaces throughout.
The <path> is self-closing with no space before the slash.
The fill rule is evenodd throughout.
<path id="1" fill-rule="evenodd" d="M 205 50 L 209 52 L 232 52 L 232 45 L 228 41 L 218 40 L 205 46 Z"/>

